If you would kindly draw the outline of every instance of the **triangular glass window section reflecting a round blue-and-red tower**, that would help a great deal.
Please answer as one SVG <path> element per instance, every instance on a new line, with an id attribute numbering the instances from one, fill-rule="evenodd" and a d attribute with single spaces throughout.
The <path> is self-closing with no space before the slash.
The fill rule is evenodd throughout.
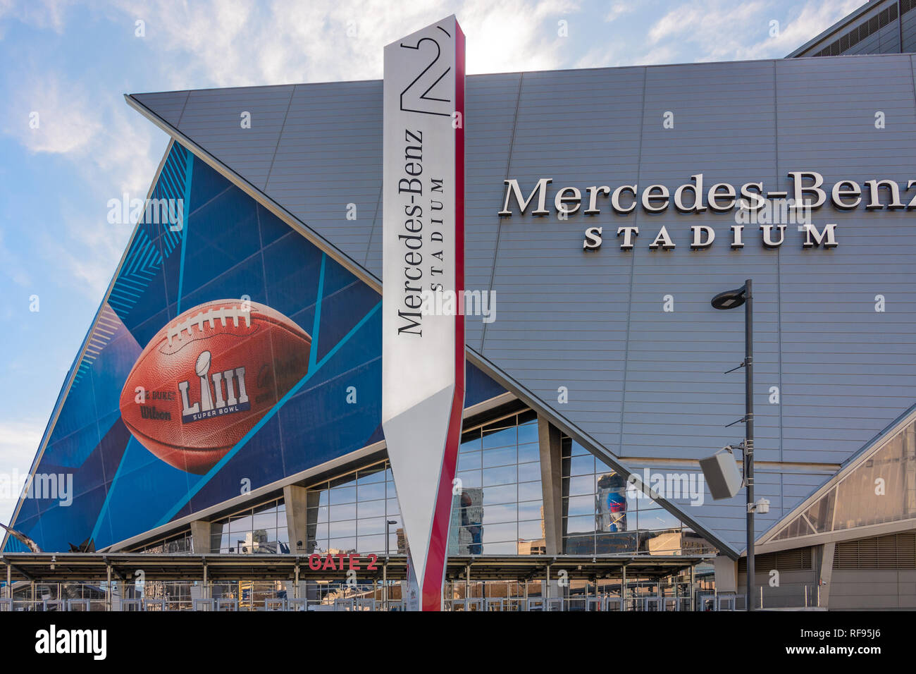
<path id="1" fill-rule="evenodd" d="M 563 553 L 679 555 L 708 547 L 643 493 L 627 493 L 627 475 L 562 436 Z"/>

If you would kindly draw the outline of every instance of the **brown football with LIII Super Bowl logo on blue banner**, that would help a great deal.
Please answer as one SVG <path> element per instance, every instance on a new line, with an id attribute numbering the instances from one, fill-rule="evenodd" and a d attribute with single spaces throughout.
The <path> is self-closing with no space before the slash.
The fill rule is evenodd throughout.
<path id="1" fill-rule="evenodd" d="M 309 370 L 311 337 L 264 304 L 199 304 L 158 331 L 121 391 L 121 418 L 159 459 L 202 474 Z"/>

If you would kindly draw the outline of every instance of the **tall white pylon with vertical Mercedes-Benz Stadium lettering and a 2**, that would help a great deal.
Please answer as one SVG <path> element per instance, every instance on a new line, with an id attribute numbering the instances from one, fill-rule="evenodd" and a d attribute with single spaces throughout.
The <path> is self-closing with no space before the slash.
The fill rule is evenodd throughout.
<path id="1" fill-rule="evenodd" d="M 464 404 L 464 35 L 448 17 L 385 48 L 382 429 L 410 559 L 408 608 L 442 609 Z"/>

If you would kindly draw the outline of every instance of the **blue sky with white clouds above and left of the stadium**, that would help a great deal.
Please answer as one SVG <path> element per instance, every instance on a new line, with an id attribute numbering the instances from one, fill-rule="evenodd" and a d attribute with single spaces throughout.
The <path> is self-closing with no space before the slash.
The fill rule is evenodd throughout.
<path id="1" fill-rule="evenodd" d="M 124 94 L 378 79 L 450 14 L 469 74 L 780 58 L 863 4 L 0 0 L 0 478 L 29 470 L 130 238 L 108 201 L 145 198 L 168 144 Z"/>

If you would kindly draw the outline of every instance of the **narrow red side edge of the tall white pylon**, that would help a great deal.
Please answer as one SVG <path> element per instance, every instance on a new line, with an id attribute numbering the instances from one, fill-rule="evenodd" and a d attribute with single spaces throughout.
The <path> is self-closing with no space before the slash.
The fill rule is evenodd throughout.
<path id="1" fill-rule="evenodd" d="M 464 33 L 455 21 L 455 112 L 461 115 L 461 126 L 455 129 L 455 292 L 464 290 Z M 459 294 L 459 297 L 461 295 Z M 461 301 L 461 300 L 459 300 Z M 449 524 L 452 519 L 452 482 L 458 464 L 464 409 L 464 316 L 455 316 L 455 390 L 449 434 L 432 516 L 430 549 L 423 576 L 423 611 L 442 610 L 442 584 L 449 545 Z"/>

